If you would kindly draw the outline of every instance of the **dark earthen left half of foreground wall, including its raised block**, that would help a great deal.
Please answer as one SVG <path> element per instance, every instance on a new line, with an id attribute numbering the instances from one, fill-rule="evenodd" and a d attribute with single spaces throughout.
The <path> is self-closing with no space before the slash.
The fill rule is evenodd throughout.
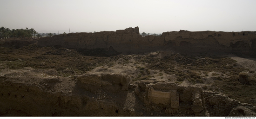
<path id="1" fill-rule="evenodd" d="M 34 84 L 29 82 L 31 79 Z M 63 83 L 65 81 L 68 82 Z M 15 80 L 0 75 L 0 116 L 140 115 L 122 108 L 129 81 L 126 75 L 117 74 L 87 74 L 75 79 L 25 76 Z M 74 87 L 67 86 L 72 83 L 76 83 Z M 100 85 L 103 89 L 97 90 Z M 105 90 L 108 88 L 115 92 Z"/>

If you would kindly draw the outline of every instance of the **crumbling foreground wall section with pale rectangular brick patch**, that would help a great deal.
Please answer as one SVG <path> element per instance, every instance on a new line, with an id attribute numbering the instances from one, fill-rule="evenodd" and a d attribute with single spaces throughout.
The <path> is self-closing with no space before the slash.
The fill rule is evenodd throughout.
<path id="1" fill-rule="evenodd" d="M 229 116 L 233 108 L 245 105 L 216 91 L 168 82 L 139 81 L 135 92 L 146 105 L 159 106 L 172 116 Z M 249 104 L 247 107 L 255 109 Z"/>

